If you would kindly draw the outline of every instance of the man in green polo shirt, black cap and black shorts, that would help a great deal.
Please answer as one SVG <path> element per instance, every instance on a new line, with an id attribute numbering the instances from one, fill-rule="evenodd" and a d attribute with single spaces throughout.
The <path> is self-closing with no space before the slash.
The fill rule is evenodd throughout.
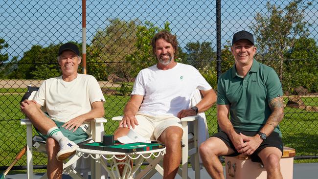
<path id="1" fill-rule="evenodd" d="M 273 68 L 253 59 L 256 47 L 250 32 L 235 33 L 231 51 L 235 64 L 218 81 L 221 132 L 200 146 L 204 167 L 213 179 L 224 179 L 218 156 L 243 153 L 263 162 L 268 179 L 282 179 L 283 143 L 278 125 L 284 116 L 282 85 Z"/>

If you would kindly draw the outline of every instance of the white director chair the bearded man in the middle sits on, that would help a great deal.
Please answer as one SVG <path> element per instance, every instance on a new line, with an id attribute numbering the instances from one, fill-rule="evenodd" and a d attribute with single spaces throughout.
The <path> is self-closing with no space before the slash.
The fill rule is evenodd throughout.
<path id="1" fill-rule="evenodd" d="M 191 107 L 201 101 L 200 90 L 195 90 L 191 98 Z M 123 116 L 113 117 L 113 120 L 120 121 Z M 204 112 L 194 116 L 187 116 L 181 119 L 182 122 L 182 164 L 178 169 L 178 174 L 182 179 L 190 179 L 188 177 L 188 157 L 193 170 L 195 170 L 195 178 L 200 179 L 200 158 L 199 145 L 208 138 L 206 118 Z M 163 156 L 152 160 L 148 158 L 149 165 L 136 175 L 136 179 L 150 179 L 155 173 L 159 172 L 163 176 L 163 168 L 160 166 L 160 161 Z M 154 164 L 155 163 L 155 164 Z"/>

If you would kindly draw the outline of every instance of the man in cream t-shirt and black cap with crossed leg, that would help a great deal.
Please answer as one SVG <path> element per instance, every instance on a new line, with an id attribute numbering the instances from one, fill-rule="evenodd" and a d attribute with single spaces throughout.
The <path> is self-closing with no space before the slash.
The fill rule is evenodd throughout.
<path id="1" fill-rule="evenodd" d="M 33 100 L 24 100 L 21 109 L 46 140 L 47 176 L 62 177 L 63 160 L 75 153 L 79 143 L 88 138 L 89 121 L 104 115 L 105 98 L 97 80 L 78 74 L 81 62 L 78 47 L 60 46 L 58 63 L 62 76 L 43 82 Z M 41 108 L 48 116 L 41 111 Z"/>

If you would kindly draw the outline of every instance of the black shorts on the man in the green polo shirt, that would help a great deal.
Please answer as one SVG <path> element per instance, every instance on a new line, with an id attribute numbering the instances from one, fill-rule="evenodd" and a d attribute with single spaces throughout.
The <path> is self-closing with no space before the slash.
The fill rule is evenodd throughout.
<path id="1" fill-rule="evenodd" d="M 244 134 L 244 135 L 247 135 L 247 136 L 254 136 L 258 133 L 258 131 L 240 131 L 240 130 L 237 130 L 235 129 L 235 132 L 237 134 Z M 220 138 L 225 144 L 227 144 L 227 146 L 229 146 L 231 149 L 233 149 L 234 153 L 233 154 L 230 154 L 230 155 L 227 155 L 228 157 L 233 157 L 233 156 L 238 156 L 240 155 L 239 152 L 237 152 L 237 150 L 235 149 L 232 141 L 229 139 L 229 137 L 227 136 L 227 134 L 225 132 L 219 132 L 219 133 L 216 133 L 213 135 L 213 137 L 217 137 L 217 138 Z M 269 136 L 267 136 L 267 138 L 261 143 L 261 145 L 255 150 L 255 152 L 250 155 L 251 157 L 251 160 L 253 162 L 262 162 L 261 158 L 258 157 L 258 153 L 263 150 L 264 148 L 266 147 L 276 147 L 278 148 L 281 152 L 282 152 L 282 155 L 283 155 L 283 141 L 282 139 L 280 138 L 279 134 L 276 133 L 276 132 L 273 132 L 272 134 L 270 134 Z"/>

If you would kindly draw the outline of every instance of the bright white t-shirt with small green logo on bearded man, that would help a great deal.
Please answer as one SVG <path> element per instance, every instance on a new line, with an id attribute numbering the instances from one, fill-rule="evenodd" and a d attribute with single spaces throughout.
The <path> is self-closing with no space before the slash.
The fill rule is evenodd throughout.
<path id="1" fill-rule="evenodd" d="M 140 113 L 177 116 L 190 108 L 196 88 L 212 89 L 195 67 L 177 63 L 172 69 L 161 70 L 154 65 L 139 71 L 131 94 L 144 96 Z"/>

